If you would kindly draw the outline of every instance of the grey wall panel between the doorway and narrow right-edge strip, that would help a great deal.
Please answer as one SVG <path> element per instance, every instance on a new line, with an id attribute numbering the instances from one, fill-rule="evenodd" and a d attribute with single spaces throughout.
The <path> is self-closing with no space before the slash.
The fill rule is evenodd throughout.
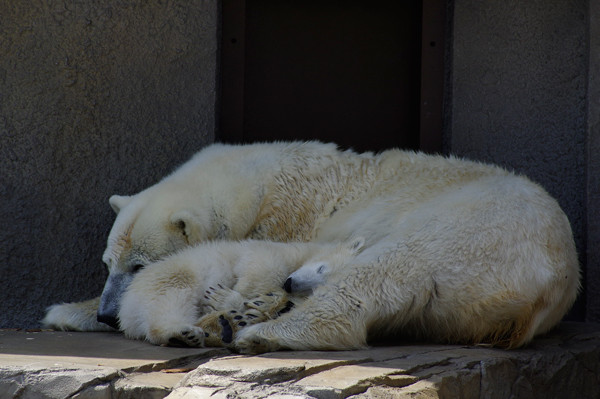
<path id="1" fill-rule="evenodd" d="M 556 197 L 581 254 L 587 5 L 455 0 L 449 126 L 453 153 L 524 173 Z"/>

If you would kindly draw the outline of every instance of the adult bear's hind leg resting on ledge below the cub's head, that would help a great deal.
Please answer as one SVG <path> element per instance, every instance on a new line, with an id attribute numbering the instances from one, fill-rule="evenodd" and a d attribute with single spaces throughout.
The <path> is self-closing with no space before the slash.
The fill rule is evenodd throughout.
<path id="1" fill-rule="evenodd" d="M 234 349 L 255 354 L 366 347 L 370 305 L 339 287 L 323 288 L 290 313 L 239 331 Z"/>

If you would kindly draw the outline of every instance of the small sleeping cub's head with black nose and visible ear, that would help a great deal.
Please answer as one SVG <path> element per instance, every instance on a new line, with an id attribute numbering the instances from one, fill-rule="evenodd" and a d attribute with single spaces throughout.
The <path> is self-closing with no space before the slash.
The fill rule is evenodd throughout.
<path id="1" fill-rule="evenodd" d="M 327 282 L 329 277 L 344 268 L 364 248 L 363 237 L 353 238 L 333 248 L 315 254 L 285 280 L 283 288 L 289 292 L 310 291 Z"/>

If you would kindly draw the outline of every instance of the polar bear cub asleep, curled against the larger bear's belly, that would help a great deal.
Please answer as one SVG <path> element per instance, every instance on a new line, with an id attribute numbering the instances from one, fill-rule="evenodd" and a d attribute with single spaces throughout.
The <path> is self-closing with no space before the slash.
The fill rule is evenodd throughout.
<path id="1" fill-rule="evenodd" d="M 290 273 L 311 263 L 313 257 L 351 258 L 360 252 L 362 242 L 215 241 L 179 251 L 135 275 L 121 299 L 120 328 L 129 338 L 156 345 L 203 346 L 214 328 L 202 316 L 227 309 L 230 336 L 234 323 L 244 326 L 274 317 L 286 304 L 289 310 L 302 299 L 296 297 L 290 303 L 282 295 Z M 266 298 L 254 299 L 248 309 L 245 302 L 262 295 Z M 213 345 L 229 344 L 232 338 L 224 338 L 222 326 L 218 327 Z"/>

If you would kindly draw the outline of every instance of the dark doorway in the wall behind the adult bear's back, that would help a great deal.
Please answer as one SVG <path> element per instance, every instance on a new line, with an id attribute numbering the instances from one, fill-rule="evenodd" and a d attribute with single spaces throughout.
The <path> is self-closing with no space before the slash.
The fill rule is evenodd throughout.
<path id="1" fill-rule="evenodd" d="M 421 76 L 432 64 L 423 49 L 443 51 L 443 37 L 424 32 L 437 24 L 443 33 L 443 18 L 429 20 L 421 1 L 224 0 L 222 7 L 220 141 L 441 148 L 441 131 L 423 133 L 430 124 L 422 121 Z M 443 70 L 443 57 L 436 60 Z M 441 78 L 428 84 L 441 98 Z M 435 104 L 425 103 L 431 119 Z M 436 117 L 441 130 L 441 103 Z"/>

